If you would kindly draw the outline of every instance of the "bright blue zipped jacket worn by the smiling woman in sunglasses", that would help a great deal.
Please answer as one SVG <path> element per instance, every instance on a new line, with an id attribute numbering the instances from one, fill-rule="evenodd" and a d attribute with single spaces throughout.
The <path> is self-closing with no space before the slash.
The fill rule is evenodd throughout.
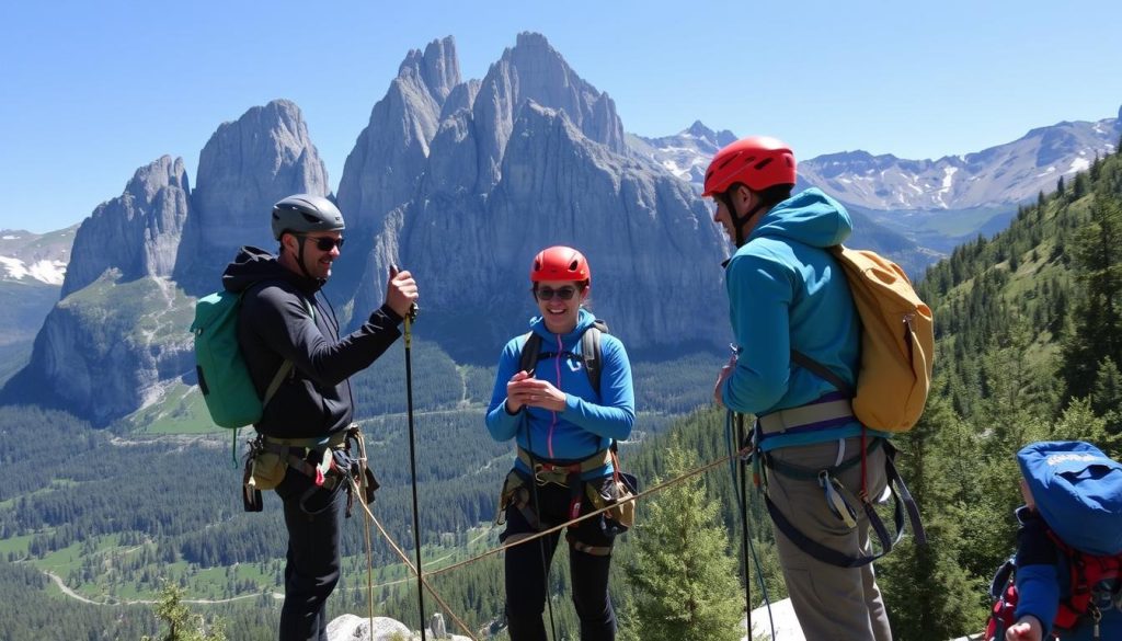
<path id="1" fill-rule="evenodd" d="M 548 379 L 565 393 L 565 409 L 551 412 L 541 408 L 524 408 L 515 414 L 506 411 L 506 384 L 518 372 L 523 336 L 506 344 L 498 360 L 495 390 L 487 408 L 487 430 L 496 441 L 517 439 L 518 447 L 535 457 L 550 460 L 581 460 L 631 434 L 635 424 L 635 394 L 632 390 L 631 363 L 623 342 L 614 336 L 603 335 L 600 350 L 604 359 L 600 391 L 592 390 L 581 354 L 581 336 L 596 318 L 580 310 L 577 327 L 569 333 L 557 335 L 545 328 L 542 318 L 531 321 L 531 330 L 542 337 L 542 351 L 559 356 L 537 363 L 535 376 Z M 523 425 L 527 425 L 528 430 Z M 527 438 L 528 434 L 528 438 Z M 531 447 L 533 446 L 533 447 Z M 515 465 L 528 471 L 521 460 Z M 591 470 L 586 478 L 611 473 L 611 466 Z"/>

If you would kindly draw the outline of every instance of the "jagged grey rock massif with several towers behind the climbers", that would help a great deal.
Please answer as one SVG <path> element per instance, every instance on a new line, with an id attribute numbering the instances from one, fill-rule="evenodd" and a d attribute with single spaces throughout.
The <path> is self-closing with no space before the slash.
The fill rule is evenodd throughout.
<path id="1" fill-rule="evenodd" d="M 341 324 L 377 308 L 401 265 L 421 282 L 419 336 L 457 361 L 490 364 L 535 311 L 533 254 L 569 244 L 592 264 L 594 310 L 634 356 L 723 349 L 729 246 L 689 181 L 734 135 L 700 122 L 678 137 L 624 131 L 610 97 L 539 34 L 519 34 L 482 80 L 460 77 L 451 37 L 408 52 L 335 196 L 350 241 L 324 295 Z M 140 167 L 79 228 L 63 299 L 3 397 L 108 424 L 193 384 L 194 296 L 220 286 L 240 245 L 275 247 L 267 212 L 297 192 L 331 195 L 286 100 L 221 125 L 193 187 L 180 158 Z M 863 216 L 855 208 L 863 246 L 913 272 L 932 260 Z"/>

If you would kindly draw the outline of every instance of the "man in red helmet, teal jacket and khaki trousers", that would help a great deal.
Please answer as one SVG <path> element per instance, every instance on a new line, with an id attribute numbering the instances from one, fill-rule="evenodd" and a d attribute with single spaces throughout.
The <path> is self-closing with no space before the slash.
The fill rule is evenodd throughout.
<path id="1" fill-rule="evenodd" d="M 714 397 L 755 414 L 757 455 L 767 466 L 767 497 L 799 532 L 850 558 L 871 551 L 858 492 L 886 485 L 884 434 L 866 430 L 849 399 L 797 365 L 799 351 L 854 385 L 861 319 L 845 276 L 826 248 L 853 229 L 845 208 L 817 189 L 794 196 L 795 161 L 782 141 L 737 140 L 714 156 L 705 196 L 737 249 L 726 263 L 729 318 L 737 354 Z M 774 525 L 774 523 L 773 523 Z M 872 565 L 820 560 L 774 526 L 783 577 L 809 641 L 890 641 Z"/>

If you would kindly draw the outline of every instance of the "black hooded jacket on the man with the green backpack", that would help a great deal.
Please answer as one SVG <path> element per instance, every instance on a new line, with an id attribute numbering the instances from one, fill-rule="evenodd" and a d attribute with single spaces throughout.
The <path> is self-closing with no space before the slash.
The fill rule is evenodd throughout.
<path id="1" fill-rule="evenodd" d="M 245 292 L 238 342 L 257 393 L 265 396 L 286 358 L 294 364 L 256 425 L 261 433 L 319 438 L 346 430 L 355 411 L 347 378 L 369 367 L 401 336 L 402 318 L 383 305 L 340 339 L 338 324 L 315 297 L 321 285 L 256 247 L 242 247 L 222 274 L 227 291 Z M 315 309 L 314 320 L 307 305 Z"/>

